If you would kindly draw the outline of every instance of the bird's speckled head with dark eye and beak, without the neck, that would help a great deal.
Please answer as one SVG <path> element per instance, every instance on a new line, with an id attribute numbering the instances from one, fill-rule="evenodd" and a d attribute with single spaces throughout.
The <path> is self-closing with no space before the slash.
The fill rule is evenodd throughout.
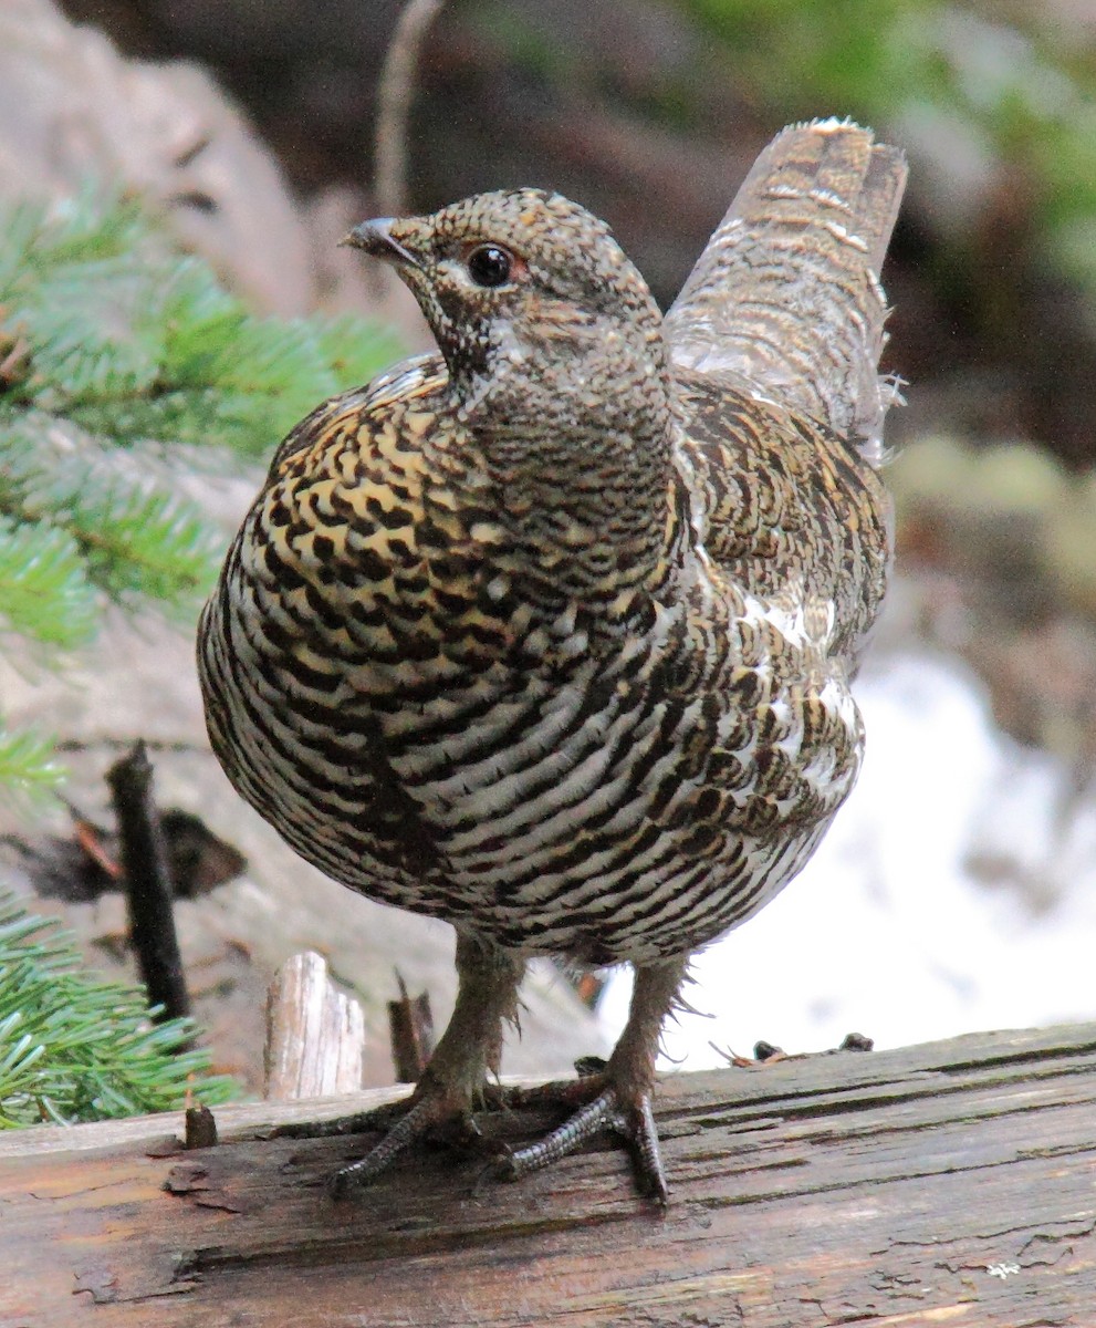
<path id="1" fill-rule="evenodd" d="M 665 373 L 662 317 L 609 227 L 560 194 L 478 194 L 430 216 L 364 222 L 345 243 L 410 287 L 470 412 L 626 405 Z M 602 414 L 602 421 L 605 416 Z"/>

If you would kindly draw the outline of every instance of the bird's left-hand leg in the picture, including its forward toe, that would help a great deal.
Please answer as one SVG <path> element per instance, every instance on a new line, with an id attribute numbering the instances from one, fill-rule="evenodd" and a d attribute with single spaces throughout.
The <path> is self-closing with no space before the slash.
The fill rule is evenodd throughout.
<path id="1" fill-rule="evenodd" d="M 358 1162 L 332 1178 L 336 1194 L 368 1185 L 409 1143 L 438 1129 L 472 1131 L 472 1112 L 488 1072 L 498 1073 L 503 1023 L 517 1017 L 523 960 L 476 936 L 456 934 L 456 1007 L 452 1019 L 407 1100 L 407 1112 Z"/>

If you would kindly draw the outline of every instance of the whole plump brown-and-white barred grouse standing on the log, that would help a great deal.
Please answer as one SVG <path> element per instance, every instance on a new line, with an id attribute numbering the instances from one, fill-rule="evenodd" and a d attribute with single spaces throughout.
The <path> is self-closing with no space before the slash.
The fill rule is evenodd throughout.
<path id="1" fill-rule="evenodd" d="M 454 1021 L 357 1178 L 468 1116 L 547 952 L 633 963 L 633 1017 L 600 1114 L 511 1173 L 624 1113 L 665 1198 L 649 1094 L 687 956 L 795 875 L 860 764 L 902 182 L 853 125 L 786 130 L 665 321 L 559 195 L 354 232 L 442 353 L 285 440 L 199 668 L 243 797 L 337 880 L 458 928 Z"/>

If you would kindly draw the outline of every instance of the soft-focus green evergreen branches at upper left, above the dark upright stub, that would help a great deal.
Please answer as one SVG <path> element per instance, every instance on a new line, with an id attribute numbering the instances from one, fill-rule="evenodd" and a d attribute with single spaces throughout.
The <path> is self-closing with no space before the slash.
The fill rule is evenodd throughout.
<path id="1" fill-rule="evenodd" d="M 399 352 L 360 319 L 257 319 L 131 199 L 0 211 L 0 648 L 90 640 L 107 603 L 192 618 L 224 535 L 179 477 L 259 458 Z M 0 716 L 0 794 L 60 777 Z"/>

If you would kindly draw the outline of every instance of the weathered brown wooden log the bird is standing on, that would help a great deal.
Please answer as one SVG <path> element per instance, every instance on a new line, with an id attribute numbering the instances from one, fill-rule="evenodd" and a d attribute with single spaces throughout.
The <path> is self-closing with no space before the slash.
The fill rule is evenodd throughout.
<path id="1" fill-rule="evenodd" d="M 0 1324 L 1096 1325 L 1096 1025 L 667 1076 L 665 1214 L 608 1141 L 336 1203 L 364 1138 L 257 1137 L 364 1097 L 220 1109 L 190 1153 L 172 1117 L 1 1138 Z"/>

